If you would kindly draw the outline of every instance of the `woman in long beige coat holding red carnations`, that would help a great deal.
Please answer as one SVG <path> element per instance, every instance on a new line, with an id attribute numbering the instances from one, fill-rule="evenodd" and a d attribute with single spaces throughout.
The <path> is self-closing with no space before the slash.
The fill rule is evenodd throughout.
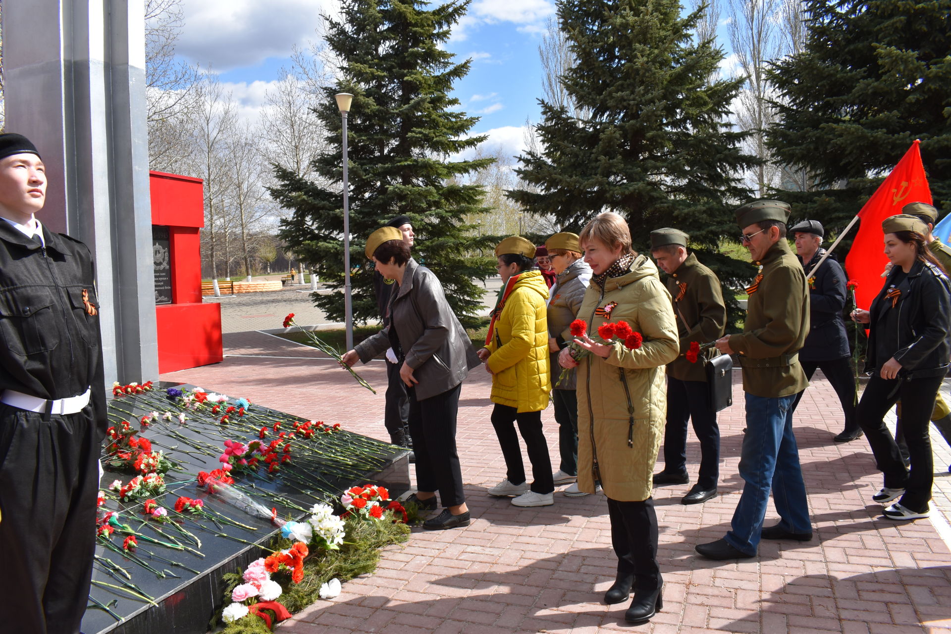
<path id="1" fill-rule="evenodd" d="M 558 357 L 578 368 L 578 489 L 593 493 L 600 484 L 608 497 L 618 563 L 605 602 L 621 603 L 633 589 L 625 620 L 643 623 L 663 605 L 650 474 L 667 415 L 664 365 L 679 354 L 677 326 L 657 268 L 631 252 L 623 218 L 598 215 L 580 241 L 593 275 L 578 313 L 588 335 L 575 341 L 592 354 L 578 363 L 566 348 Z M 595 334 L 608 321 L 626 322 L 643 342 L 603 343 Z"/>

